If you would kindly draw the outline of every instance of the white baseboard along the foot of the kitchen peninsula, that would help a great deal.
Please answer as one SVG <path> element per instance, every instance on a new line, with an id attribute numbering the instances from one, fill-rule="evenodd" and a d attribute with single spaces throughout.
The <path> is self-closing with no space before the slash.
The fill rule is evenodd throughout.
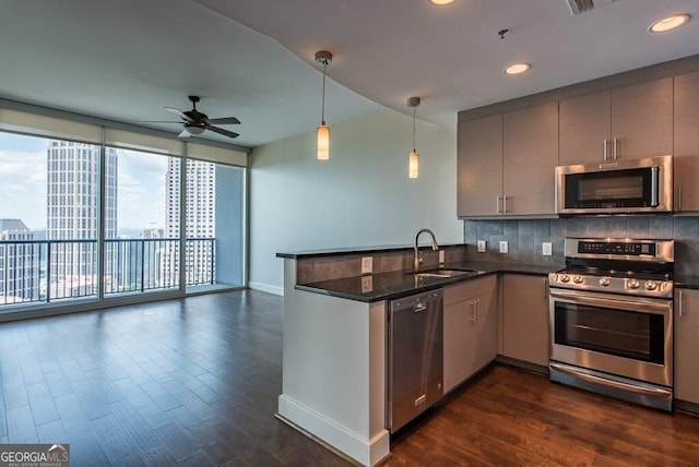
<path id="1" fill-rule="evenodd" d="M 364 439 L 284 394 L 279 398 L 279 415 L 364 466 L 374 466 L 389 455 L 388 430 Z"/>

